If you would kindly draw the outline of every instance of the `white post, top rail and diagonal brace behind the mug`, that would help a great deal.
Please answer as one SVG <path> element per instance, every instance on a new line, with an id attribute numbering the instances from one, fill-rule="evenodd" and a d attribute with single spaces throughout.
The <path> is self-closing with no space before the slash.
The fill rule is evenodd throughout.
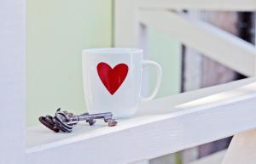
<path id="1" fill-rule="evenodd" d="M 148 48 L 147 28 L 154 27 L 243 75 L 255 75 L 256 48 L 253 44 L 180 12 L 182 9 L 255 11 L 253 0 L 117 0 L 115 9 L 115 45 L 118 47 Z M 235 111 L 230 111 L 230 116 L 232 112 Z M 212 135 L 217 136 L 217 133 Z"/>

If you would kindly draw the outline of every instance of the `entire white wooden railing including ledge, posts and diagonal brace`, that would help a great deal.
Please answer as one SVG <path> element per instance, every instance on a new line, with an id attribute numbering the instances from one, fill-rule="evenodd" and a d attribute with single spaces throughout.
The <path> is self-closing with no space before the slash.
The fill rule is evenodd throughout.
<path id="1" fill-rule="evenodd" d="M 137 47 L 139 42 L 143 45 L 147 42 L 147 26 L 155 26 L 236 71 L 248 76 L 255 74 L 255 47 L 204 22 L 189 20 L 177 12 L 183 8 L 255 10 L 256 3 L 254 0 L 116 0 L 115 45 Z M 25 137 L 25 0 L 1 1 L 0 18 L 0 40 L 5 43 L 0 46 L 0 88 L 4 98 L 0 119 L 0 150 L 4 152 L 0 155 L 1 164 L 70 164 L 84 160 L 95 164 L 131 163 L 256 127 L 256 83 L 249 78 L 155 99 L 141 105 L 137 116 L 120 121 L 117 127 L 82 126 L 70 134 L 30 127 Z M 170 25 L 172 21 L 175 25 Z M 186 36 L 183 30 L 188 32 Z M 211 38 L 202 42 L 206 37 Z M 214 43 L 218 49 L 208 43 Z M 9 113 L 14 117 L 10 118 Z"/>

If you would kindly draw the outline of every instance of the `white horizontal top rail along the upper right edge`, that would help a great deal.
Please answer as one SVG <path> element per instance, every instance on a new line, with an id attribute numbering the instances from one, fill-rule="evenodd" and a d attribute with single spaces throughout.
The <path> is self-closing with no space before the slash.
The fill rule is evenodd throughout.
<path id="1" fill-rule="evenodd" d="M 206 10 L 256 10 L 254 0 L 139 0 L 140 8 L 206 9 Z"/>

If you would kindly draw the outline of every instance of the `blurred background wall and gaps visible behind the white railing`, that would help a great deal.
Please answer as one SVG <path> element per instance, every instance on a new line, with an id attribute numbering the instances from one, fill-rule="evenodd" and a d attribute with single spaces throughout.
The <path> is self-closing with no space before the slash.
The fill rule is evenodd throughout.
<path id="1" fill-rule="evenodd" d="M 82 84 L 81 51 L 113 47 L 113 0 L 26 1 L 26 109 L 27 126 L 38 125 L 38 116 L 61 107 L 86 110 Z M 254 43 L 255 14 L 250 12 L 182 11 Z M 125 31 L 124 31 L 125 32 Z M 246 78 L 195 49 L 148 29 L 150 59 L 163 68 L 158 97 L 206 88 Z M 154 75 L 151 75 L 154 83 Z M 230 143 L 222 139 L 175 155 L 153 159 L 152 164 L 189 163 Z"/>

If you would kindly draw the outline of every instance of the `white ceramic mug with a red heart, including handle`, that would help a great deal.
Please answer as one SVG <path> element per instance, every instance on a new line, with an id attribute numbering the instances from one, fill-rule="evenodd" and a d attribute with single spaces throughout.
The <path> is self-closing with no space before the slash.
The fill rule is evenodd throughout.
<path id="1" fill-rule="evenodd" d="M 143 50 L 137 48 L 94 48 L 82 53 L 84 97 L 90 113 L 112 112 L 114 118 L 125 118 L 137 112 L 140 101 L 154 99 L 160 88 L 161 67 L 143 60 Z M 155 88 L 143 98 L 143 67 L 157 70 Z"/>

